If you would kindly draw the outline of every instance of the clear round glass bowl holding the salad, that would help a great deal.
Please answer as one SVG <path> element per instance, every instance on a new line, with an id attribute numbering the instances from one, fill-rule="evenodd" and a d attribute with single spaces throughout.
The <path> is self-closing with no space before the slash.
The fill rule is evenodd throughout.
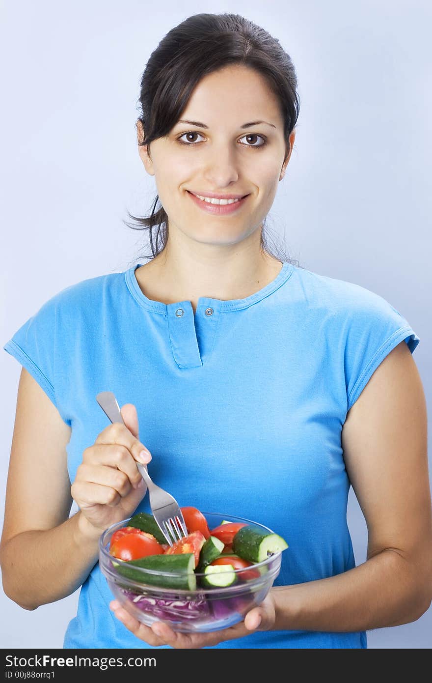
<path id="1" fill-rule="evenodd" d="M 218 527 L 222 520 L 226 520 L 253 524 L 263 531 L 272 531 L 268 527 L 242 517 L 216 512 L 203 512 L 203 515 L 210 529 Z M 123 607 L 139 622 L 147 626 L 162 621 L 169 624 L 175 631 L 189 633 L 217 631 L 233 626 L 241 622 L 248 611 L 264 600 L 280 571 L 282 553 L 274 553 L 263 562 L 254 564 L 253 567 L 235 570 L 237 581 L 226 588 L 199 587 L 199 579 L 203 574 L 197 572 L 195 572 L 196 590 L 162 588 L 146 582 L 149 579 L 154 581 L 157 575 L 173 576 L 173 574 L 146 570 L 141 567 L 136 567 L 136 570 L 142 575 L 142 581 L 141 579 L 139 582 L 131 581 L 119 574 L 115 566 L 115 563 L 120 566 L 128 563 L 109 554 L 111 536 L 117 529 L 127 527 L 129 521 L 130 518 L 117 522 L 102 533 L 99 540 L 100 569 L 115 599 L 121 602 Z M 245 578 L 245 572 L 250 573 L 250 569 L 259 570 L 259 576 L 255 579 Z M 246 577 L 248 577 L 247 573 Z"/>

